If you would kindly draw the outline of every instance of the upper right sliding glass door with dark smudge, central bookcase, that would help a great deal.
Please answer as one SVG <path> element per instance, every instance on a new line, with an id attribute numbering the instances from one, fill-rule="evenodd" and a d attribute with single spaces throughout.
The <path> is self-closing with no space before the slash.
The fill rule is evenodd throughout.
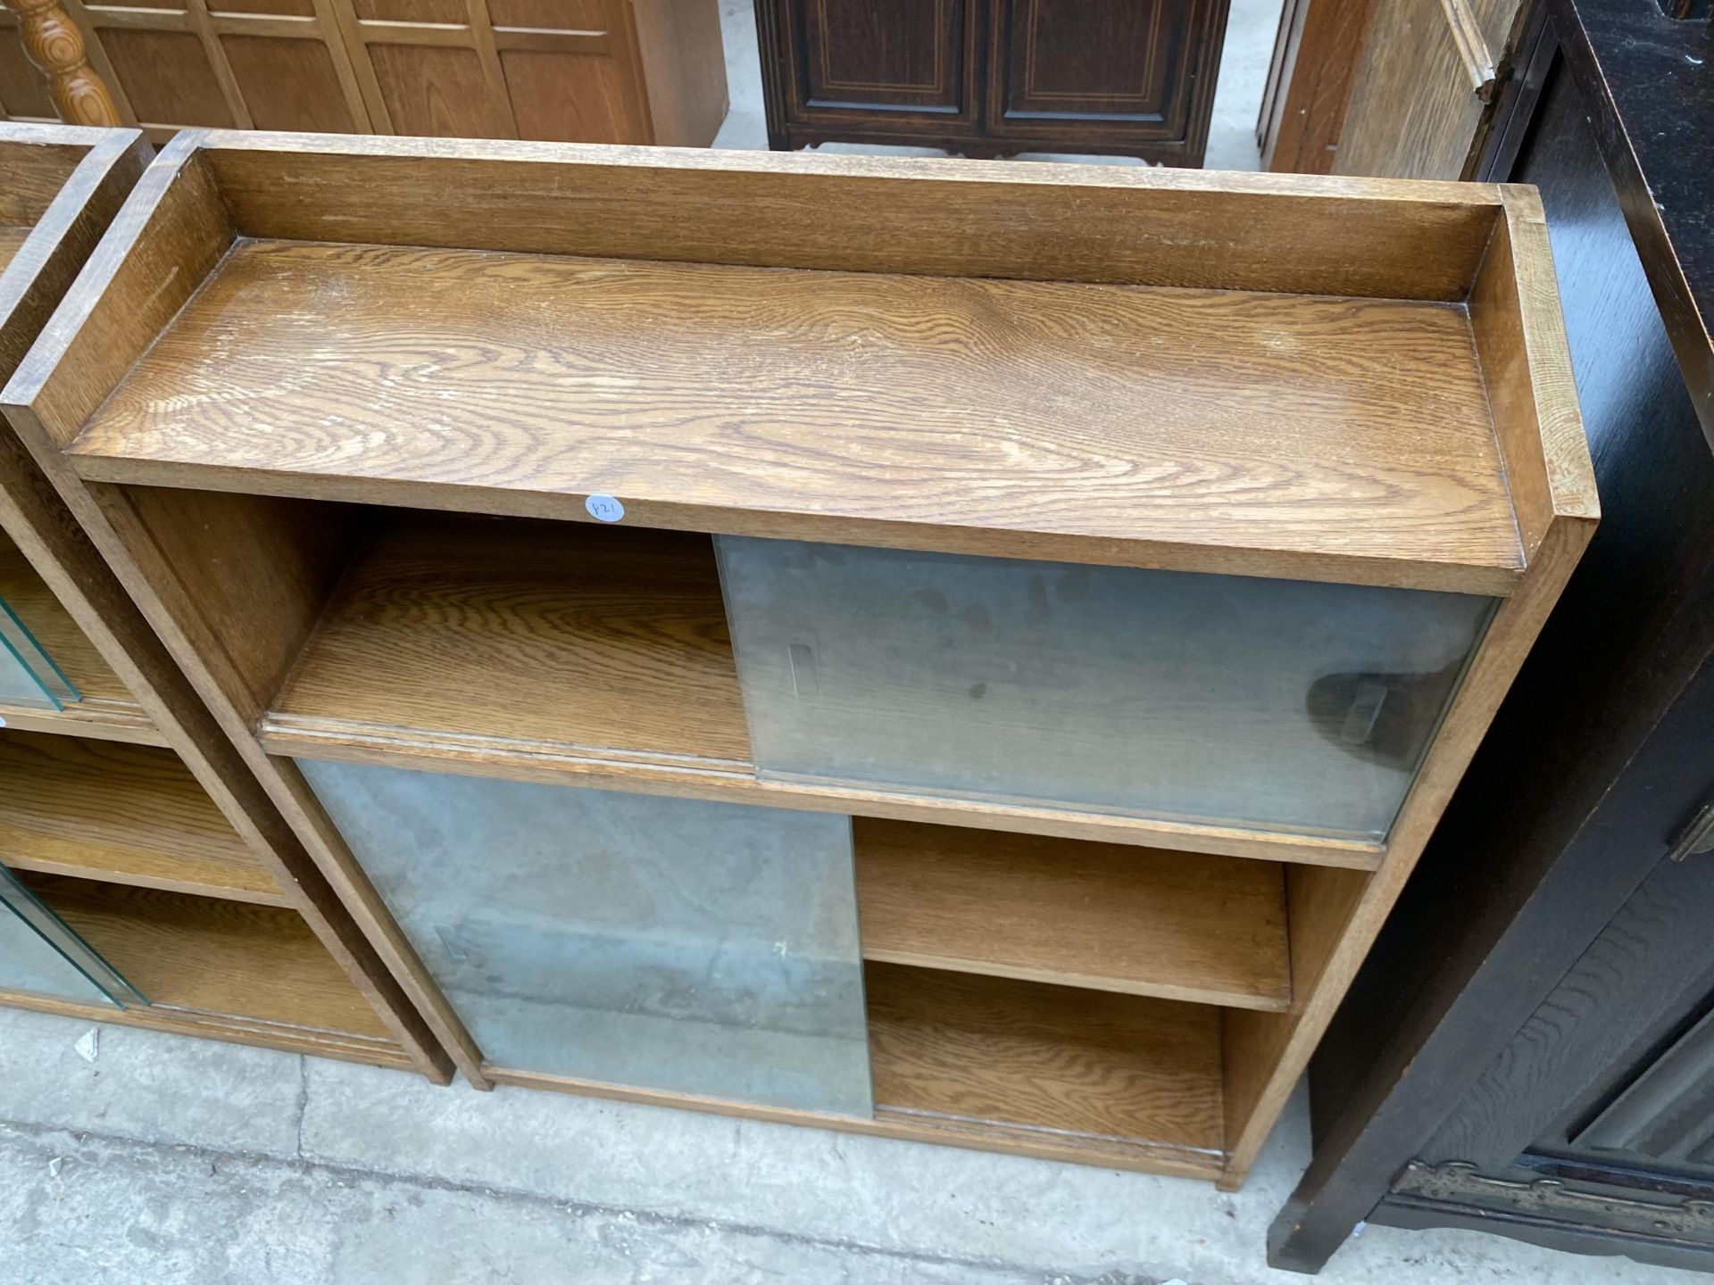
<path id="1" fill-rule="evenodd" d="M 1491 600 L 716 538 L 756 768 L 1387 833 Z"/>

